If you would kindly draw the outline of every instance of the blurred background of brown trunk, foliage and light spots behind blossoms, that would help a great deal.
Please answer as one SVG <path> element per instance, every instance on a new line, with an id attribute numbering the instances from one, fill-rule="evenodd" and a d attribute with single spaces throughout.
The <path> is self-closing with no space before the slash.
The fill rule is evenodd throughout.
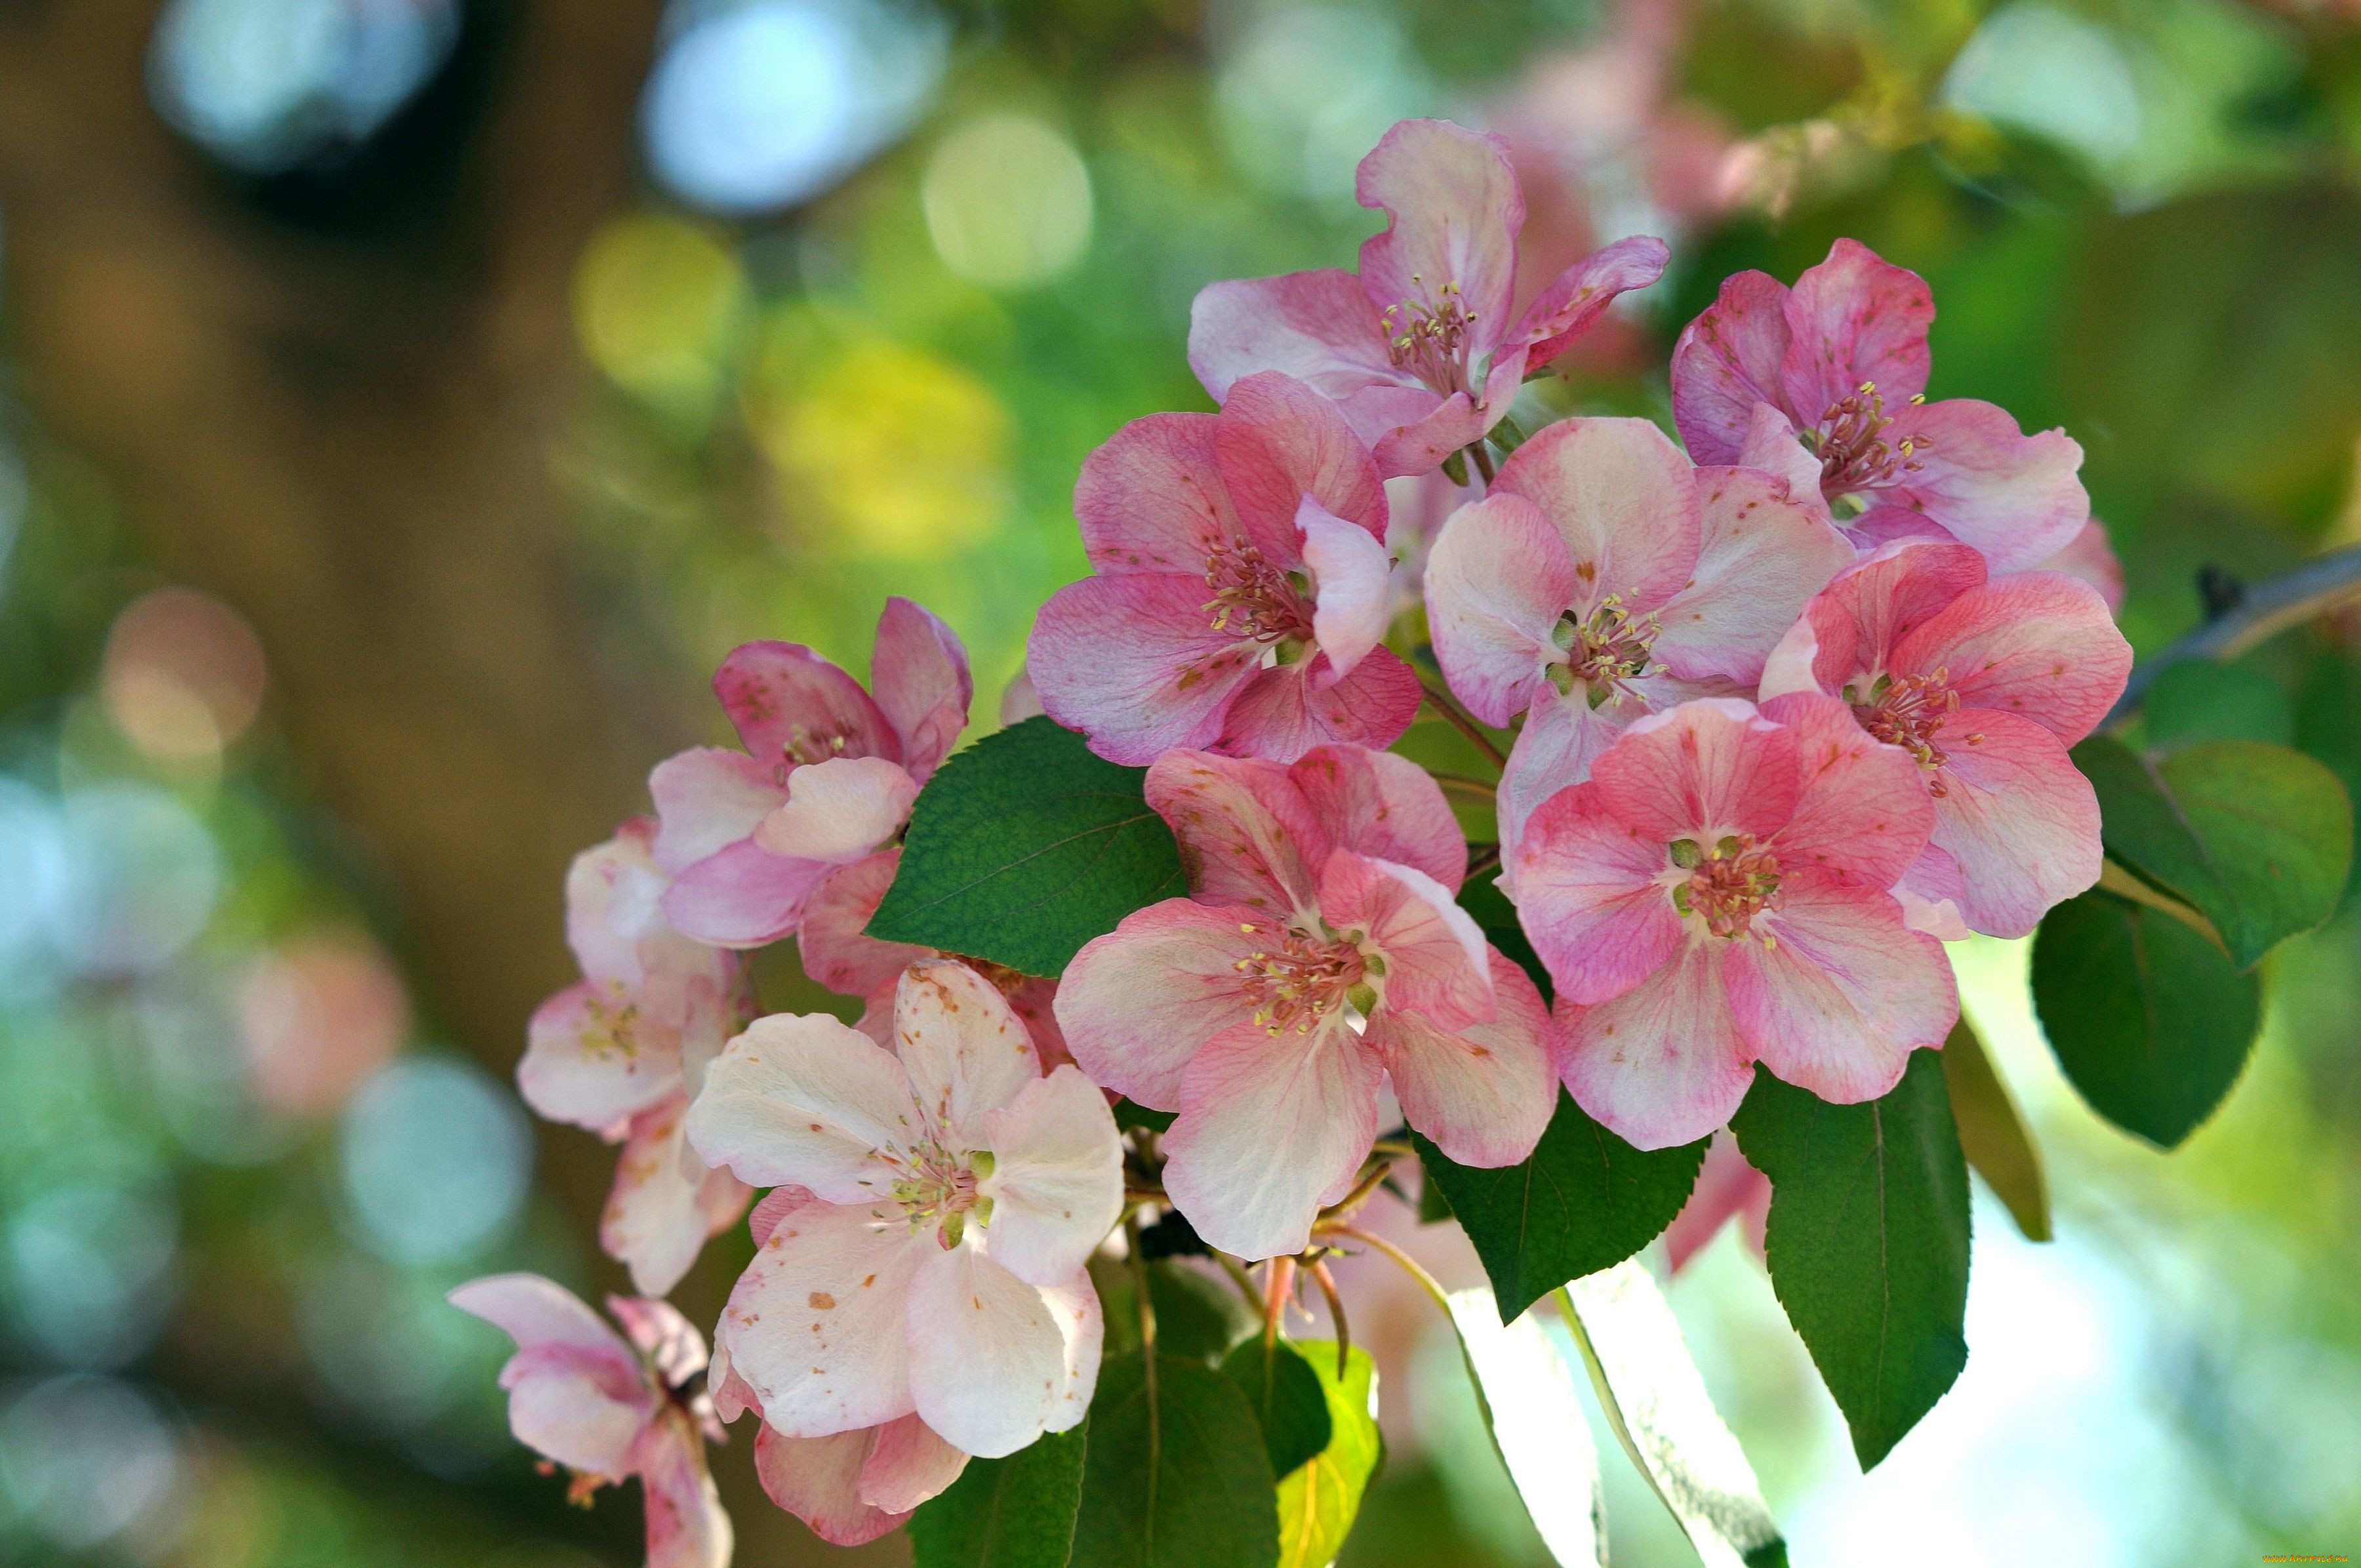
<path id="1" fill-rule="evenodd" d="M 746 638 L 859 671 L 909 593 L 989 723 L 1081 456 L 1206 406 L 1192 293 L 1350 264 L 1414 113 L 1513 139 L 1528 290 L 1674 243 L 1558 409 L 1665 418 L 1726 272 L 1853 234 L 1931 279 L 1936 397 L 2085 444 L 2144 652 L 2361 538 L 2352 0 L 0 0 L 0 1559 L 637 1561 L 442 1306 L 621 1285 L 607 1150 L 510 1086 L 567 857 Z M 2361 784 L 2354 631 L 2200 727 Z M 1794 1561 L 2361 1551 L 2361 916 L 2174 1157 L 2064 1086 L 2021 945 L 1957 956 L 2059 1240 L 1979 1200 L 1953 1396 L 1863 1478 L 1740 1237 L 1672 1285 Z M 1362 1278 L 1343 1561 L 1546 1561 Z M 1605 1462 L 1617 1561 L 1693 1563 Z M 741 1563 L 831 1556 L 715 1466 Z"/>

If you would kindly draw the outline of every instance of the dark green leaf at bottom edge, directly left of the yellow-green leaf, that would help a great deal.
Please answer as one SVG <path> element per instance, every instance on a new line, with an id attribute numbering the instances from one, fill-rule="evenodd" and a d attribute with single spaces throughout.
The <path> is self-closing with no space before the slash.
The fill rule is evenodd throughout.
<path id="1" fill-rule="evenodd" d="M 1091 1400 L 1072 1568 L 1275 1568 L 1277 1478 L 1247 1396 L 1197 1360 L 1110 1360 Z"/>

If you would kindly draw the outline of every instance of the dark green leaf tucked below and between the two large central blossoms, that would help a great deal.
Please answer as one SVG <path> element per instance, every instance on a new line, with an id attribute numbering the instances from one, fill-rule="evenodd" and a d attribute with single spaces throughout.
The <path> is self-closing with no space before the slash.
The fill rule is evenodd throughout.
<path id="1" fill-rule="evenodd" d="M 1575 1275 L 1613 1268 L 1662 1235 L 1688 1202 L 1705 1141 L 1636 1150 L 1558 1091 L 1558 1112 L 1523 1164 L 1454 1164 L 1412 1133 L 1426 1181 L 1443 1188 L 1502 1313 L 1516 1318 Z"/>

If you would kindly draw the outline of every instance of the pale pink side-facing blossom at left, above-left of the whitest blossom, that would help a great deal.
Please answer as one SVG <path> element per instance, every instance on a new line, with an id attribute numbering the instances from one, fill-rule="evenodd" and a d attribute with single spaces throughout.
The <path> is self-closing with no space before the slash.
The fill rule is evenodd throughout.
<path id="1" fill-rule="evenodd" d="M 534 1013 L 517 1086 L 550 1122 L 623 1145 L 600 1244 L 661 1296 L 746 1211 L 744 1183 L 708 1169 L 680 1124 L 748 999 L 737 954 L 666 923 L 654 838 L 656 824 L 633 817 L 574 857 L 567 940 L 583 978 Z"/>

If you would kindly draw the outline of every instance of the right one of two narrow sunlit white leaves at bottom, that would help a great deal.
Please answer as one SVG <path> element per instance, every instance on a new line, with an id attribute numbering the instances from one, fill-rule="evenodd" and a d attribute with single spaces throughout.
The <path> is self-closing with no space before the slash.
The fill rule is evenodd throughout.
<path id="1" fill-rule="evenodd" d="M 1598 1407 L 1705 1568 L 1785 1563 L 1787 1544 L 1754 1466 L 1714 1410 L 1655 1278 L 1627 1259 L 1570 1282 L 1558 1304 Z"/>

